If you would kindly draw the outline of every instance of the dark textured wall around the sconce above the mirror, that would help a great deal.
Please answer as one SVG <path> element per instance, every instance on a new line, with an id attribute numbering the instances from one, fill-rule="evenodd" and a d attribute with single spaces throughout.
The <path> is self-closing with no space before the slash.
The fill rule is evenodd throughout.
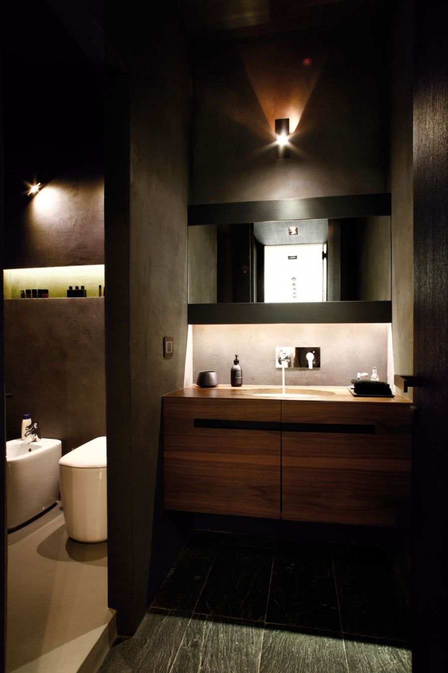
<path id="1" fill-rule="evenodd" d="M 386 31 L 372 19 L 199 44 L 193 203 L 386 191 Z M 279 160 L 283 117 L 291 149 Z"/>

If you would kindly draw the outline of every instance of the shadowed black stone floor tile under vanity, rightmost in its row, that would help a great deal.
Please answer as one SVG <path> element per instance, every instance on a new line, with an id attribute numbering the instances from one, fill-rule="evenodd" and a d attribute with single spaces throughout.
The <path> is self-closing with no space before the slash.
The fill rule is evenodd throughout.
<path id="1" fill-rule="evenodd" d="M 410 640 L 410 608 L 384 548 L 333 544 L 334 575 L 343 631 Z"/>

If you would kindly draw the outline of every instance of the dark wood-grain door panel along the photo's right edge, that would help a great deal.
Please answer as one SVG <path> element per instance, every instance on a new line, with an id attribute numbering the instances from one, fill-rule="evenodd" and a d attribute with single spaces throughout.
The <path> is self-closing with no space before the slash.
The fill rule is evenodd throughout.
<path id="1" fill-rule="evenodd" d="M 416 2 L 414 85 L 413 670 L 446 651 L 448 476 L 448 42 L 446 5 Z M 431 642 L 431 647 L 428 643 Z"/>

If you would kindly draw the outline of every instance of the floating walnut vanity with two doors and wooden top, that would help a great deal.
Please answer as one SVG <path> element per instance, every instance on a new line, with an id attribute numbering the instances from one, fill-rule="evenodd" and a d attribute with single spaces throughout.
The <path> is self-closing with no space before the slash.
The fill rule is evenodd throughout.
<path id="1" fill-rule="evenodd" d="M 165 507 L 407 526 L 411 402 L 343 386 L 287 392 L 193 385 L 165 395 Z"/>

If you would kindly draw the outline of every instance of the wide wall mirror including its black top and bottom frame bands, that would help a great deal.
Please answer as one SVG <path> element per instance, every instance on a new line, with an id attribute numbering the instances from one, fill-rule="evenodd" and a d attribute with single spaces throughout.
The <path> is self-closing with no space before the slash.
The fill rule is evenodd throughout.
<path id="1" fill-rule="evenodd" d="M 390 194 L 189 207 L 190 324 L 390 322 Z"/>

